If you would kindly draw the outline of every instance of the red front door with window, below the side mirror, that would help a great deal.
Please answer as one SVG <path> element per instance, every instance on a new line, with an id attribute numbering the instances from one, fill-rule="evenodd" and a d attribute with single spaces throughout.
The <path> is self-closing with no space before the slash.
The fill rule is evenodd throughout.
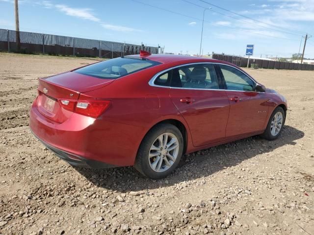
<path id="1" fill-rule="evenodd" d="M 255 82 L 244 72 L 229 65 L 216 65 L 230 102 L 226 138 L 232 139 L 263 130 L 268 98 L 255 91 Z"/>

